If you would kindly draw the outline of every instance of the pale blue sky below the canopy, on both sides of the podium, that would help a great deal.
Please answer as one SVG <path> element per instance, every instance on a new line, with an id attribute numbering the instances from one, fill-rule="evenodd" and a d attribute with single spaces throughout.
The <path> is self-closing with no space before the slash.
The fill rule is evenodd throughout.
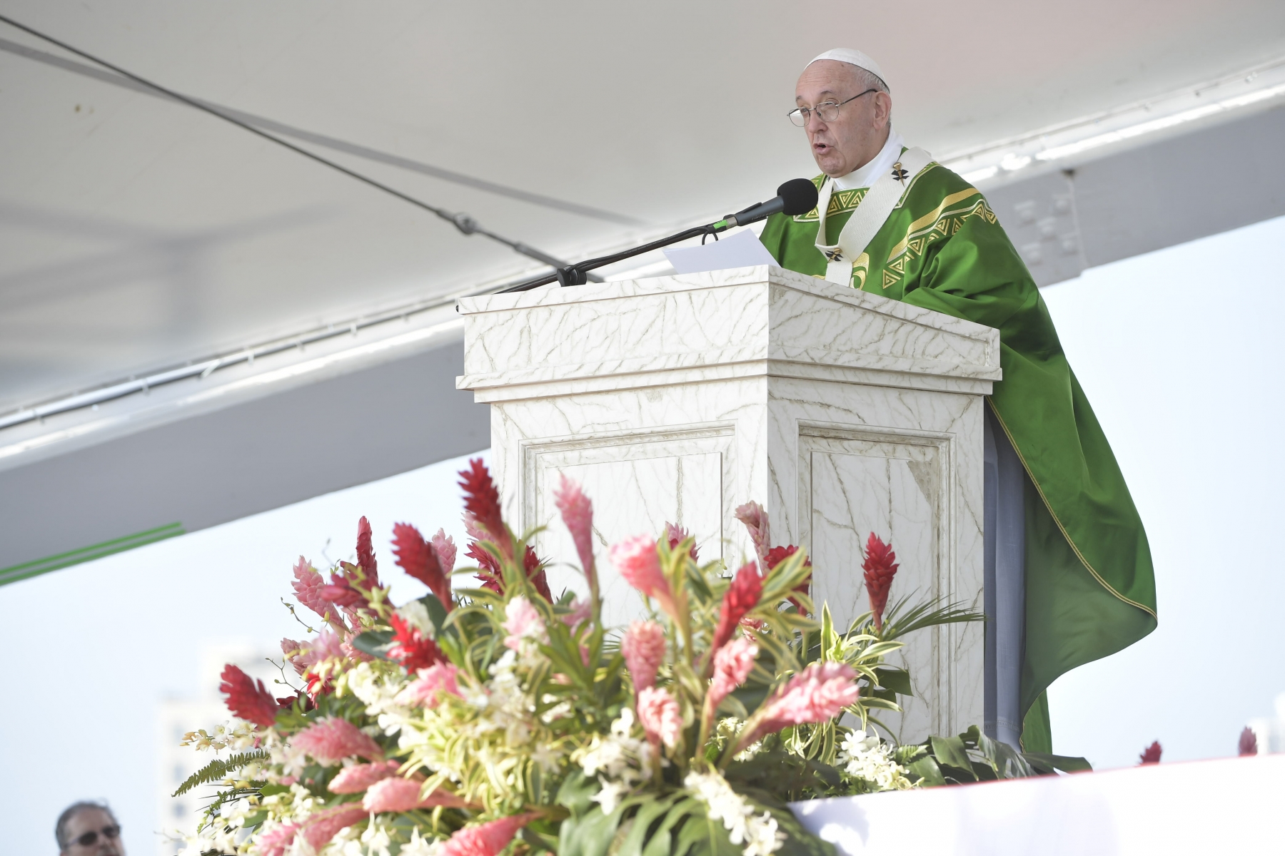
<path id="1" fill-rule="evenodd" d="M 1245 721 L 1285 690 L 1281 246 L 1285 218 L 1045 289 L 1146 524 L 1160 613 L 1149 638 L 1052 687 L 1058 752 L 1100 767 L 1132 764 L 1153 739 L 1165 760 L 1232 755 Z M 445 526 L 459 542 L 461 463 L 0 588 L 6 850 L 53 852 L 58 811 L 105 797 L 128 852 L 150 856 L 162 823 L 154 711 L 166 696 L 198 693 L 202 646 L 297 638 L 278 601 L 290 565 L 301 553 L 347 557 L 361 515 L 387 567 L 393 522 Z M 421 590 L 389 576 L 397 601 Z"/>

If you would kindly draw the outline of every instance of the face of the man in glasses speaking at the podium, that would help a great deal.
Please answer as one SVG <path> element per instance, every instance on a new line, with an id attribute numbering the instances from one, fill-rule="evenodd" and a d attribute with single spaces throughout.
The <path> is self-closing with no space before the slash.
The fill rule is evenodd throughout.
<path id="1" fill-rule="evenodd" d="M 840 104 L 860 95 L 855 67 L 834 59 L 821 59 L 806 69 L 794 89 L 795 107 L 815 108 L 822 101 Z M 808 142 L 816 166 L 828 176 L 846 176 L 864 167 L 879 154 L 888 141 L 888 116 L 892 98 L 887 92 L 870 92 L 839 108 L 833 122 L 822 122 L 813 110 L 808 119 Z"/>

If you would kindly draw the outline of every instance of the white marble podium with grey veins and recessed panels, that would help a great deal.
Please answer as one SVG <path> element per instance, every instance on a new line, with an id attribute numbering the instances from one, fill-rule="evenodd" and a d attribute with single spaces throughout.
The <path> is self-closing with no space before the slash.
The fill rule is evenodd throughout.
<path id="1" fill-rule="evenodd" d="M 813 597 L 843 626 L 866 611 L 861 545 L 891 538 L 892 598 L 983 606 L 983 397 L 998 332 L 776 267 L 464 298 L 460 389 L 491 404 L 491 463 L 554 590 L 581 588 L 556 520 L 558 474 L 594 501 L 607 620 L 639 598 L 605 548 L 698 538 L 732 570 L 753 549 L 736 506 L 765 506 L 774 544 L 802 544 Z M 980 624 L 919 631 L 900 739 L 983 717 Z"/>

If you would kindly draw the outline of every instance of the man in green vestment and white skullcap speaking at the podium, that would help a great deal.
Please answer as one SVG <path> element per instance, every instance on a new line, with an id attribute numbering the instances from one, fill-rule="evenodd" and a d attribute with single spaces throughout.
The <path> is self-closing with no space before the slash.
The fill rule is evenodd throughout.
<path id="1" fill-rule="evenodd" d="M 1155 629 L 1142 522 L 1031 273 L 986 198 L 907 149 L 879 65 L 830 50 L 790 121 L 822 175 L 815 210 L 762 241 L 792 271 L 1000 331 L 987 415 L 987 730 L 1051 751 L 1045 689 Z"/>

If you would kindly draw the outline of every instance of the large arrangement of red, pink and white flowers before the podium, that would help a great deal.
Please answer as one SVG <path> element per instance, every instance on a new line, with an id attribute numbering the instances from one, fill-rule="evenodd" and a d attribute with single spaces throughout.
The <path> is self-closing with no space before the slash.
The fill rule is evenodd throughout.
<path id="1" fill-rule="evenodd" d="M 389 601 L 366 518 L 355 563 L 325 576 L 299 560 L 294 595 L 321 630 L 281 642 L 290 697 L 225 669 L 238 721 L 186 738 L 230 751 L 179 791 L 218 787 L 186 856 L 831 853 L 788 801 L 1051 771 L 977 729 L 919 746 L 871 730 L 910 693 L 885 662 L 901 639 L 979 619 L 889 608 L 898 566 L 874 534 L 871 608 L 846 631 L 817 613 L 806 552 L 772 545 L 756 503 L 736 512 L 756 557 L 734 574 L 672 525 L 630 538 L 609 561 L 645 617 L 619 633 L 601 624 L 592 504 L 576 484 L 563 479 L 555 504 L 587 599 L 550 592 L 535 533 L 505 525 L 481 461 L 460 475 L 474 569 L 455 570 L 441 530 L 393 527 L 423 598 Z M 477 588 L 451 586 L 470 571 Z"/>

